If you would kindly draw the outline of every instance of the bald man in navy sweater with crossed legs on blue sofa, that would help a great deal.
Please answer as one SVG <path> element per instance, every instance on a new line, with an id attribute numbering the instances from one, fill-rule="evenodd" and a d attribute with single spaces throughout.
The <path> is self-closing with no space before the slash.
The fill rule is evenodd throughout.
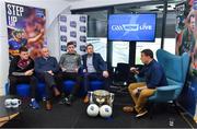
<path id="1" fill-rule="evenodd" d="M 59 71 L 59 66 L 55 57 L 49 56 L 48 48 L 42 48 L 42 57 L 35 59 L 35 72 L 39 80 L 46 83 L 46 109 L 51 109 L 51 91 L 55 96 L 60 95 L 60 92 L 56 87 L 55 74 Z"/>

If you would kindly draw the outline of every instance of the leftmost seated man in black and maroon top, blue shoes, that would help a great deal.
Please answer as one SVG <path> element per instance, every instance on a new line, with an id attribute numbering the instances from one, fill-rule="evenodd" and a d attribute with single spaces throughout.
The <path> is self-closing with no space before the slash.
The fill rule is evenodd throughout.
<path id="1" fill-rule="evenodd" d="M 19 83 L 30 83 L 32 97 L 31 106 L 32 108 L 39 108 L 39 105 L 35 99 L 37 80 L 34 77 L 34 61 L 28 57 L 28 50 L 26 47 L 21 47 L 19 52 L 20 56 L 14 57 L 10 62 L 10 94 L 16 94 L 16 85 Z"/>

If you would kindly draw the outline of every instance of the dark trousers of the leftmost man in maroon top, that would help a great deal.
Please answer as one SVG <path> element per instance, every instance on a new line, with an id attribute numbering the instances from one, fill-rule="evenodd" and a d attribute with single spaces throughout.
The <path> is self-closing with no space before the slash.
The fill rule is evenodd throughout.
<path id="1" fill-rule="evenodd" d="M 35 98 L 37 79 L 34 75 L 21 75 L 21 77 L 10 75 L 9 80 L 10 80 L 10 94 L 11 95 L 16 94 L 16 85 L 18 84 L 27 83 L 27 84 L 30 84 L 30 89 L 31 89 L 31 97 Z"/>

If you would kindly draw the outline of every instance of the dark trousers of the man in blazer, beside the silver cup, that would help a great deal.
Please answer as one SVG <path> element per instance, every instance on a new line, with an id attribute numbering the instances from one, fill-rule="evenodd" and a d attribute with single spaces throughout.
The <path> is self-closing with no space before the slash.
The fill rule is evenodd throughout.
<path id="1" fill-rule="evenodd" d="M 104 81 L 104 90 L 108 91 L 108 78 L 104 78 L 102 73 L 84 73 L 84 91 L 88 92 L 90 90 L 90 81 L 100 80 Z"/>

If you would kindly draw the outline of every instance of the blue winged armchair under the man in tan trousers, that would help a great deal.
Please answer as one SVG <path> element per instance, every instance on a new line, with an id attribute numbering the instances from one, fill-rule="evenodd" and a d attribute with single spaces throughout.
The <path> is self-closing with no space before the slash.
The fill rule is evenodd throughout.
<path id="1" fill-rule="evenodd" d="M 158 87 L 154 95 L 150 96 L 148 101 L 153 103 L 167 103 L 171 101 L 175 104 L 185 84 L 189 68 L 189 56 L 186 52 L 182 56 L 175 56 L 159 49 L 157 58 L 165 71 L 169 85 Z"/>

